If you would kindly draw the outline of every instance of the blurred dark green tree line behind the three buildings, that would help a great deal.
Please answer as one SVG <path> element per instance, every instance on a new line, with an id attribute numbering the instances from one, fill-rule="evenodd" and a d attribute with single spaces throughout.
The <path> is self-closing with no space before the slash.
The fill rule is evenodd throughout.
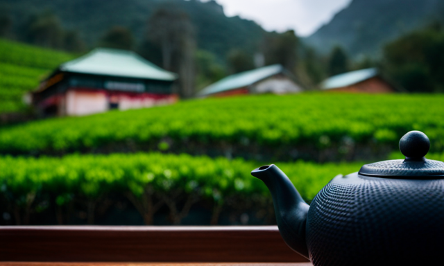
<path id="1" fill-rule="evenodd" d="M 29 17 L 19 27 L 19 36 L 12 36 L 11 24 L 12 19 L 7 14 L 0 14 L 0 36 L 75 53 L 91 48 L 87 47 L 81 33 L 63 28 L 58 16 L 49 10 Z M 95 46 L 134 50 L 160 67 L 178 73 L 178 93 L 182 98 L 194 96 L 196 91 L 224 76 L 269 64 L 282 64 L 309 89 L 317 89 L 318 84 L 330 76 L 377 67 L 406 91 L 444 91 L 441 75 L 444 29 L 438 22 L 388 42 L 382 47 L 381 55 L 351 58 L 341 46 L 323 55 L 305 45 L 293 30 L 288 30 L 265 32 L 255 49 L 232 48 L 221 60 L 198 47 L 196 27 L 187 12 L 164 6 L 147 19 L 141 41 L 137 42 L 129 28 L 111 26 Z"/>

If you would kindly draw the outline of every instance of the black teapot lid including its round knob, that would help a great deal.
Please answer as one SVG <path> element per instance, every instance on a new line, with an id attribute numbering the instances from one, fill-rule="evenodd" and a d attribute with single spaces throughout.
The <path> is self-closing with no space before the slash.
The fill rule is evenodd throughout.
<path id="1" fill-rule="evenodd" d="M 379 161 L 361 167 L 359 175 L 398 179 L 441 179 L 444 178 L 444 162 L 425 159 L 430 141 L 426 134 L 411 131 L 402 136 L 400 151 L 404 160 Z"/>

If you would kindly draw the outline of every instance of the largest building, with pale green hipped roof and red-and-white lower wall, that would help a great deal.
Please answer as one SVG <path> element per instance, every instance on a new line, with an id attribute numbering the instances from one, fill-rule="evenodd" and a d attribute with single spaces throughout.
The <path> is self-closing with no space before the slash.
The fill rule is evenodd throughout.
<path id="1" fill-rule="evenodd" d="M 80 116 L 174 103 L 176 78 L 132 51 L 96 48 L 44 79 L 33 105 L 43 116 Z"/>

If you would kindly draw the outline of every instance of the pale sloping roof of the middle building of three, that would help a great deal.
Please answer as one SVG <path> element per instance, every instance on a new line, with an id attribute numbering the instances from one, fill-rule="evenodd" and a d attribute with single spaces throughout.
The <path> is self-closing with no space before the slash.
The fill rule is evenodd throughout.
<path id="1" fill-rule="evenodd" d="M 280 64 L 273 64 L 267 67 L 261 67 L 259 69 L 253 69 L 237 73 L 213 83 L 212 85 L 205 87 L 205 89 L 199 91 L 199 96 L 205 96 L 209 94 L 216 94 L 221 91 L 229 91 L 230 89 L 237 89 L 252 85 L 259 80 L 268 78 L 278 73 L 282 73 L 284 67 Z"/>

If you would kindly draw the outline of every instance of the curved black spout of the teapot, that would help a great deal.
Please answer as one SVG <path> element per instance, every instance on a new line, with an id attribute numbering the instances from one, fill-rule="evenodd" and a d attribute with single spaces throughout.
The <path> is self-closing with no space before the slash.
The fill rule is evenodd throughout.
<path id="1" fill-rule="evenodd" d="M 276 221 L 284 241 L 291 249 L 309 258 L 305 241 L 309 205 L 278 166 L 261 166 L 253 170 L 251 175 L 261 179 L 270 190 Z"/>

